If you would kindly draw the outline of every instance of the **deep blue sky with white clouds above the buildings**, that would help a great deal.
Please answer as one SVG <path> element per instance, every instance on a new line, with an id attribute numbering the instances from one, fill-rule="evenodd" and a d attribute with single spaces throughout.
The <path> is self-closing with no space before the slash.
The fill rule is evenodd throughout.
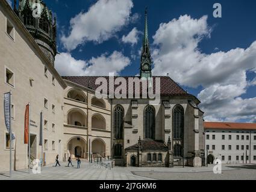
<path id="1" fill-rule="evenodd" d="M 57 15 L 61 75 L 138 74 L 147 6 L 153 74 L 169 73 L 198 97 L 207 121 L 256 122 L 256 1 L 45 3 Z"/>

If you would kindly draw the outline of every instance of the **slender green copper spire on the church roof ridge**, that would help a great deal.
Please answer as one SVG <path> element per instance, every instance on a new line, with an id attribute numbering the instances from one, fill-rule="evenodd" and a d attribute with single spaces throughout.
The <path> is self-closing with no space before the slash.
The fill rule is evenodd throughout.
<path id="1" fill-rule="evenodd" d="M 142 44 L 142 56 L 140 59 L 140 78 L 142 77 L 152 77 L 151 74 L 151 54 L 149 49 L 148 40 L 148 10 L 145 10 L 145 30 L 144 38 Z"/>

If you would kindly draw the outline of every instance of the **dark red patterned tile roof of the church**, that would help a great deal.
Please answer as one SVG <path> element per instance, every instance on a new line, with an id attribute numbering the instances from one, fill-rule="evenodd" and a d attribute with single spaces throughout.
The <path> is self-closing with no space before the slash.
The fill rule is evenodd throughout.
<path id="1" fill-rule="evenodd" d="M 76 83 L 78 85 L 82 85 L 86 88 L 91 88 L 93 90 L 96 90 L 99 85 L 95 85 L 95 81 L 98 77 L 104 77 L 107 79 L 107 82 L 109 80 L 108 76 L 64 76 L 63 79 L 69 80 L 70 82 Z M 153 77 L 153 90 L 155 92 L 155 78 L 158 76 Z M 160 76 L 159 76 L 160 77 Z M 117 76 L 114 77 L 116 79 Z M 128 78 L 129 77 L 123 77 L 126 79 L 127 82 L 127 93 L 128 93 Z M 167 76 L 161 76 L 161 87 L 160 92 L 161 96 L 193 96 L 188 94 L 186 91 L 184 91 L 181 86 L 179 86 L 177 83 L 175 83 L 170 77 Z M 114 89 L 117 88 L 119 85 L 115 85 Z M 135 87 L 134 87 L 135 90 Z M 142 86 L 140 86 L 140 92 L 142 93 Z M 194 96 L 193 96 L 194 97 Z"/>

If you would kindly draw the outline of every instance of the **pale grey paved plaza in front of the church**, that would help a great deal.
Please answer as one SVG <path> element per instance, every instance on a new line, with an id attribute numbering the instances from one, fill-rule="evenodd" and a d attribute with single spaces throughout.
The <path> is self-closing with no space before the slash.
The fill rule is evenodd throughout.
<path id="1" fill-rule="evenodd" d="M 9 172 L 0 173 L 1 180 L 152 180 L 152 179 L 193 179 L 193 180 L 256 180 L 255 164 L 223 165 L 222 174 L 213 173 L 213 165 L 208 167 L 114 167 L 105 169 L 96 164 L 83 161 L 81 168 L 67 167 L 67 163 L 61 163 L 60 167 L 43 167 L 41 174 L 28 173 L 28 170 L 13 172 L 13 178 L 9 178 Z"/>

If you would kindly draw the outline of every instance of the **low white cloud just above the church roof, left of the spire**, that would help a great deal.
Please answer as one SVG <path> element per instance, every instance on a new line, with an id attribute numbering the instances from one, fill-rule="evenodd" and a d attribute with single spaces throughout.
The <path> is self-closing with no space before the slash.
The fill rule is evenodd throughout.
<path id="1" fill-rule="evenodd" d="M 129 58 L 117 51 L 89 61 L 76 60 L 70 53 L 60 53 L 56 56 L 55 68 L 61 76 L 108 76 L 109 73 L 119 74 L 130 62 Z"/>

